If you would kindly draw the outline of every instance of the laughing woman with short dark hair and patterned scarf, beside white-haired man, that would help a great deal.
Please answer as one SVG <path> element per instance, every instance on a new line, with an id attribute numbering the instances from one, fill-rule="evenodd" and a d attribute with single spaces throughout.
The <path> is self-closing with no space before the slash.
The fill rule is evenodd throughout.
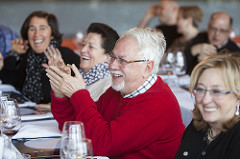
<path id="1" fill-rule="evenodd" d="M 118 39 L 118 33 L 103 23 L 90 24 L 87 35 L 82 39 L 79 72 L 95 102 L 112 84 L 107 56 Z M 36 108 L 50 111 L 50 105 L 38 105 Z"/>

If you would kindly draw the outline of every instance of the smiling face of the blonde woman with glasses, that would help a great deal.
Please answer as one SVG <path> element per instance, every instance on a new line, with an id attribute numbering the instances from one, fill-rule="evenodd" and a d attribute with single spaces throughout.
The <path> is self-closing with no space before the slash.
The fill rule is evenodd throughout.
<path id="1" fill-rule="evenodd" d="M 223 74 L 217 68 L 206 69 L 201 74 L 197 87 L 206 90 L 230 91 L 224 84 Z M 221 125 L 234 116 L 238 100 L 234 94 L 226 94 L 220 99 L 214 99 L 209 92 L 206 92 L 202 98 L 196 98 L 196 103 L 207 123 Z"/>

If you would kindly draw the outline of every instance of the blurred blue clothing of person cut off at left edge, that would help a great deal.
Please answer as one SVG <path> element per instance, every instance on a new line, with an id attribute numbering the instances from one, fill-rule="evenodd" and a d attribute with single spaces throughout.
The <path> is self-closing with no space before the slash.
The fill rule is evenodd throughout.
<path id="1" fill-rule="evenodd" d="M 19 35 L 9 27 L 0 24 L 0 52 L 3 58 L 7 56 L 11 48 L 11 41 L 19 38 Z"/>

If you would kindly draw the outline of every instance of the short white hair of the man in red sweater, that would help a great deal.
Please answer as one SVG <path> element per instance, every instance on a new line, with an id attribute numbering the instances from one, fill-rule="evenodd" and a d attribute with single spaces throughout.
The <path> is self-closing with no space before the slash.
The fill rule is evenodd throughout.
<path id="1" fill-rule="evenodd" d="M 154 61 L 152 74 L 157 74 L 159 63 L 166 50 L 166 41 L 162 33 L 150 28 L 132 28 L 121 37 L 133 37 L 139 44 L 138 55 L 143 60 Z M 120 38 L 120 39 L 121 39 Z"/>

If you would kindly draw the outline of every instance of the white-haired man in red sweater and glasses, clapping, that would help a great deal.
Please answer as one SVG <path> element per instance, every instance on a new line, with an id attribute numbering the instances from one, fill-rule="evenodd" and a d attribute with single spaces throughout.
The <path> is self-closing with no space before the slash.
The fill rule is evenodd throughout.
<path id="1" fill-rule="evenodd" d="M 174 158 L 184 125 L 176 97 L 156 75 L 165 47 L 163 35 L 154 30 L 127 31 L 109 53 L 112 87 L 96 103 L 77 67 L 72 67 L 75 77 L 56 66 L 47 68 L 59 128 L 65 121 L 83 122 L 95 155 Z"/>

